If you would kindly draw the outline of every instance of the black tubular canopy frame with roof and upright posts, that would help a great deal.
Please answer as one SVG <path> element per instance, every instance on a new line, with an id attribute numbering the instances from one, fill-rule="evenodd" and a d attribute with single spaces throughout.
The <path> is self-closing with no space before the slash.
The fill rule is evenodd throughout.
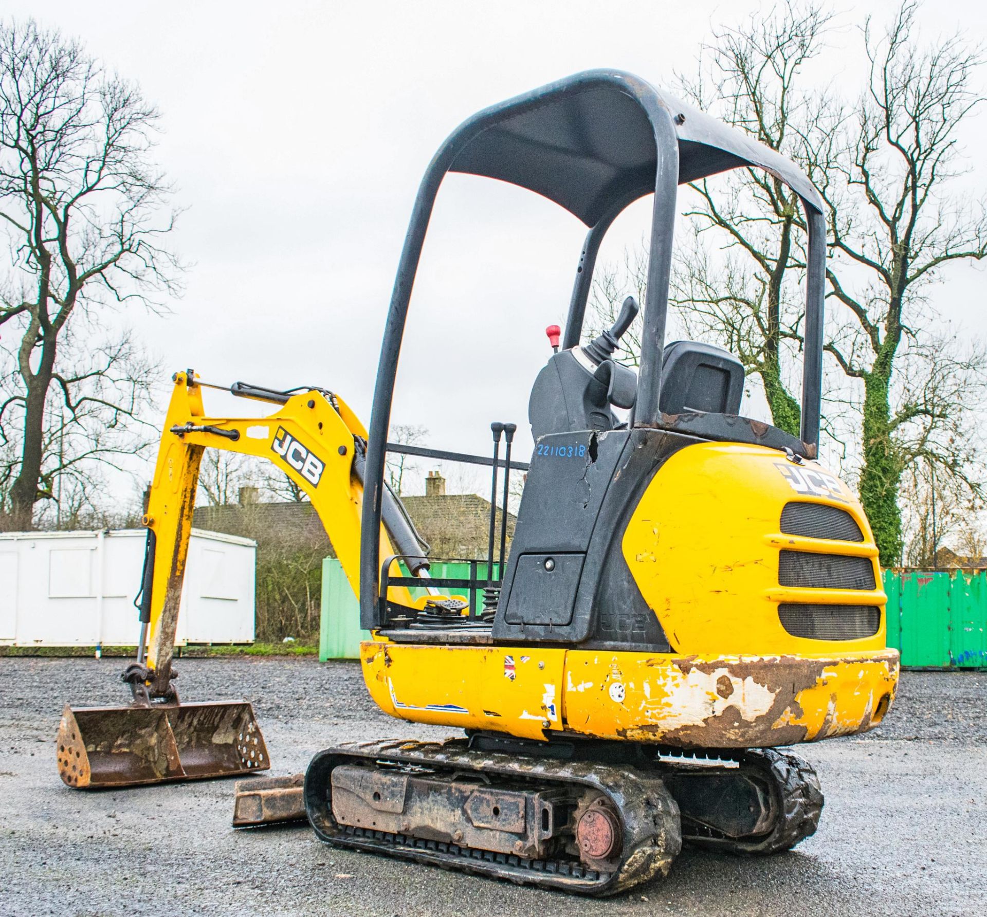
<path id="1" fill-rule="evenodd" d="M 600 243 L 620 212 L 653 191 L 642 357 L 634 425 L 662 428 L 658 404 L 678 185 L 729 169 L 765 169 L 796 191 L 808 230 L 800 438 L 818 442 L 822 383 L 825 223 L 822 201 L 788 159 L 644 80 L 589 70 L 464 121 L 429 163 L 412 211 L 381 345 L 367 443 L 360 535 L 360 625 L 380 627 L 384 465 L 398 357 L 421 248 L 447 172 L 537 191 L 589 226 L 569 303 L 564 347 L 579 343 Z"/>

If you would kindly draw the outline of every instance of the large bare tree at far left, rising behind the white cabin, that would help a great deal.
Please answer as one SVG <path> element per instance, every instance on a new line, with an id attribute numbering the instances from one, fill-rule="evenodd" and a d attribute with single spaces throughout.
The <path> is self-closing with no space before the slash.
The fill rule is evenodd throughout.
<path id="1" fill-rule="evenodd" d="M 114 341 L 100 322 L 108 307 L 159 307 L 155 295 L 176 289 L 180 266 L 162 247 L 171 189 L 150 158 L 158 117 L 77 41 L 34 21 L 0 26 L 0 224 L 10 252 L 0 328 L 17 341 L 0 431 L 4 510 L 18 528 L 53 496 L 66 455 L 81 474 L 118 454 L 92 437 L 130 427 L 146 391 L 132 341 Z"/>

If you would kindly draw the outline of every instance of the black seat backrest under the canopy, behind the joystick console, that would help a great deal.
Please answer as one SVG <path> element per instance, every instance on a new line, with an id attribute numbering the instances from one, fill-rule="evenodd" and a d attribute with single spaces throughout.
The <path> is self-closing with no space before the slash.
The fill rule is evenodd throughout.
<path id="1" fill-rule="evenodd" d="M 659 402 L 663 414 L 739 414 L 742 399 L 743 365 L 728 350 L 698 341 L 665 345 Z"/>

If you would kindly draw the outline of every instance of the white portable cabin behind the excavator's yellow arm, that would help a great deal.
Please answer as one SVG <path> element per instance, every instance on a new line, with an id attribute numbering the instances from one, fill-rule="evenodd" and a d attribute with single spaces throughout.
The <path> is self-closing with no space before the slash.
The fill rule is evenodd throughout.
<path id="1" fill-rule="evenodd" d="M 0 646 L 134 646 L 143 529 L 0 534 Z M 257 542 L 191 530 L 176 646 L 254 642 Z"/>

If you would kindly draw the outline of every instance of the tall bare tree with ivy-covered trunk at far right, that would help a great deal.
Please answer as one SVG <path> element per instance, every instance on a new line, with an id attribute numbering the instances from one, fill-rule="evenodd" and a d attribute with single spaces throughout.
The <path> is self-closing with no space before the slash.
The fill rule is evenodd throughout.
<path id="1" fill-rule="evenodd" d="M 863 97 L 803 131 L 809 176 L 830 208 L 830 301 L 844 320 L 827 349 L 863 388 L 859 488 L 884 564 L 901 556 L 898 491 L 908 462 L 921 456 L 944 473 L 961 464 L 942 437 L 923 434 L 919 450 L 908 447 L 916 425 L 934 430 L 949 419 L 944 402 L 910 397 L 899 359 L 909 344 L 935 349 L 924 334 L 936 318 L 928 285 L 951 263 L 987 256 L 987 203 L 953 181 L 957 133 L 981 101 L 973 86 L 981 56 L 958 35 L 920 42 L 917 8 L 903 3 L 881 38 L 868 19 Z M 904 394 L 897 404 L 896 380 Z"/>

